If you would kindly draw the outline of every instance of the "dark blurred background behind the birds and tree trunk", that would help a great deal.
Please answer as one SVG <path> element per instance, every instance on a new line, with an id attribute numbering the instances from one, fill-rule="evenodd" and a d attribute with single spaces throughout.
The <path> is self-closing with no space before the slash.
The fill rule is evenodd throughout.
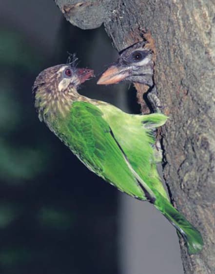
<path id="1" fill-rule="evenodd" d="M 0 22 L 0 274 L 182 273 L 169 223 L 87 170 L 33 106 L 34 79 L 68 52 L 96 74 L 117 58 L 104 29 L 44 0 L 0 2 Z M 139 113 L 127 85 L 93 79 L 80 93 Z"/>

